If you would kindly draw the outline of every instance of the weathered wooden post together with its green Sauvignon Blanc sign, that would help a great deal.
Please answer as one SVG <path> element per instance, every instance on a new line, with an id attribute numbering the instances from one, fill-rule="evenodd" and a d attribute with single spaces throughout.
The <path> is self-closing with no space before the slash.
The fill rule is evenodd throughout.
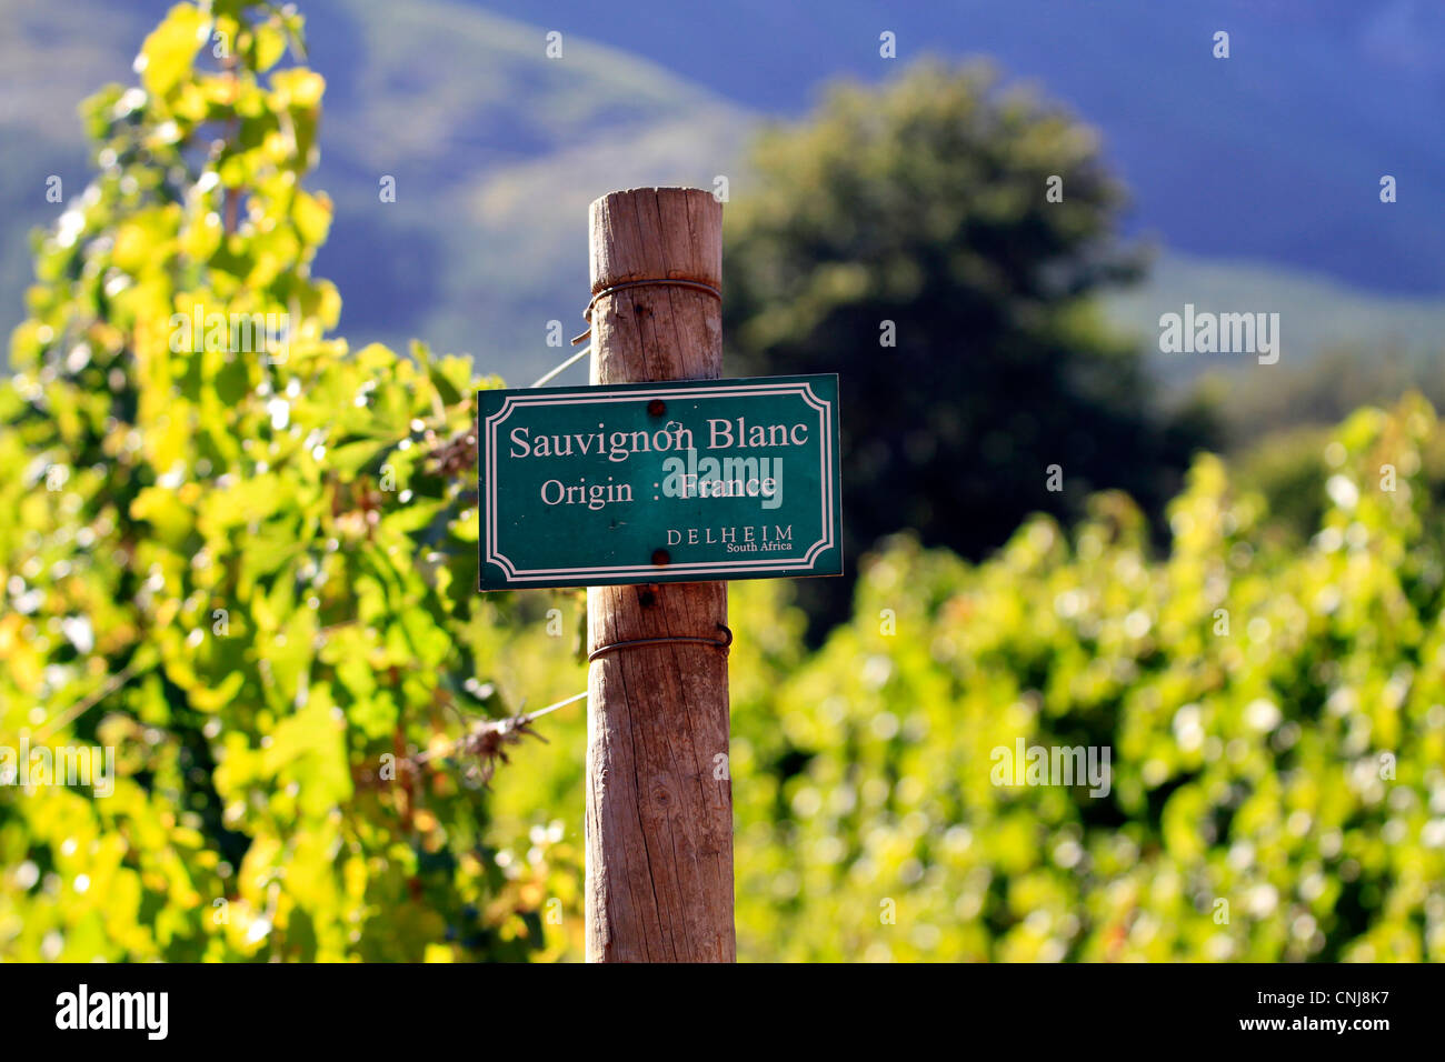
<path id="1" fill-rule="evenodd" d="M 588 961 L 731 962 L 725 581 L 842 574 L 838 379 L 720 379 L 709 192 L 590 220 L 591 386 L 477 394 L 480 585 L 588 587 Z"/>

